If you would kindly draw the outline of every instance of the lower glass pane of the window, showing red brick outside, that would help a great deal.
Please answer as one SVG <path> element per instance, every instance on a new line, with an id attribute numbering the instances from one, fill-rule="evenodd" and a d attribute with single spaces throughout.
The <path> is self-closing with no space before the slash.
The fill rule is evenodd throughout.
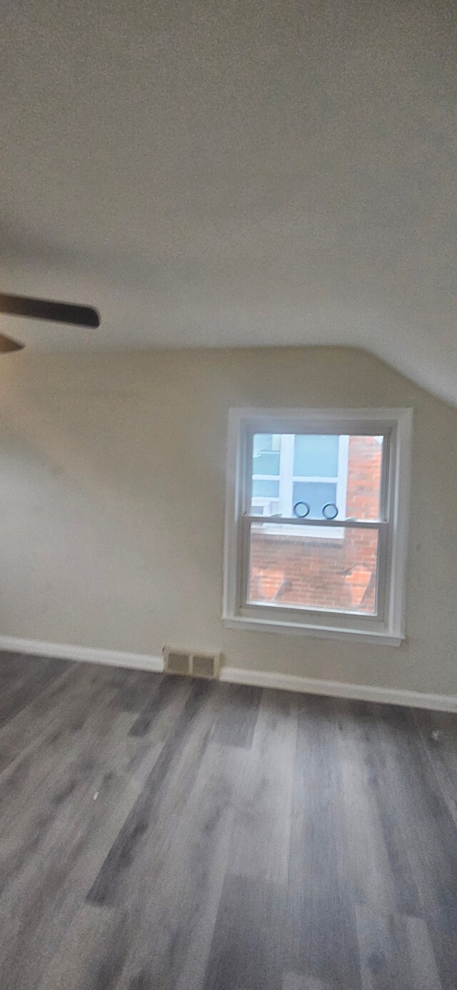
<path id="1" fill-rule="evenodd" d="M 251 526 L 251 604 L 374 614 L 377 530 L 348 528 L 338 539 L 313 536 L 312 527 L 297 527 L 297 534 L 279 529 L 274 523 Z"/>

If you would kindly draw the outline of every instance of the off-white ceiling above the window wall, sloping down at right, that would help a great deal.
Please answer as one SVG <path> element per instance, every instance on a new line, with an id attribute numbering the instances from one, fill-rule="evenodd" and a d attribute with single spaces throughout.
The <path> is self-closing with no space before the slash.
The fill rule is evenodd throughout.
<path id="1" fill-rule="evenodd" d="M 457 402 L 456 15 L 3 0 L 1 288 L 96 305 L 102 326 L 0 331 L 350 344 Z"/>

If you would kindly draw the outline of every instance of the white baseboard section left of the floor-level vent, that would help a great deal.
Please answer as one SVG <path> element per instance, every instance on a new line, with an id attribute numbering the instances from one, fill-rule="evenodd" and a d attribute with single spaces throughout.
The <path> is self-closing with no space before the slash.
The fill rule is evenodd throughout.
<path id="1" fill-rule="evenodd" d="M 41 640 L 21 640 L 14 636 L 0 636 L 0 650 L 13 653 L 30 653 L 35 656 L 58 656 L 63 660 L 82 660 L 85 663 L 107 663 L 112 667 L 130 667 L 135 670 L 163 670 L 161 656 L 147 653 L 126 653 L 117 649 L 97 649 L 92 646 L 73 646 L 66 643 L 44 643 Z"/>

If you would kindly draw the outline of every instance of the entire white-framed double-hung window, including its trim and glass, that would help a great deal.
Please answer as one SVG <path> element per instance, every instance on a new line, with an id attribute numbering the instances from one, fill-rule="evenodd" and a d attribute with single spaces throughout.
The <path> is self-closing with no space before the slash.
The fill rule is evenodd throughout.
<path id="1" fill-rule="evenodd" d="M 224 618 L 404 631 L 411 410 L 230 411 Z"/>

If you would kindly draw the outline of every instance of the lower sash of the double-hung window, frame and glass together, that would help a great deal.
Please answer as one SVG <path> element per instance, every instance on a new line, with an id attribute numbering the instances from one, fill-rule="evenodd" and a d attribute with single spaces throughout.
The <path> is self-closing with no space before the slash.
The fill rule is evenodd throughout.
<path id="1" fill-rule="evenodd" d="M 238 614 L 281 622 L 331 622 L 363 627 L 384 624 L 388 526 L 344 521 L 336 541 L 313 537 L 314 522 L 287 520 L 278 526 L 264 517 L 243 517 L 240 540 Z M 297 535 L 295 533 L 297 532 Z"/>

